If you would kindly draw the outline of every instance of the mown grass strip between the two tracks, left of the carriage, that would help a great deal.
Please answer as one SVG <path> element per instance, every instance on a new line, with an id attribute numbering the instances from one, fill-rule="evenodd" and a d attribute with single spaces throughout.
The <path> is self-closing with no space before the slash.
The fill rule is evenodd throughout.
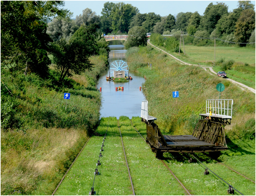
<path id="1" fill-rule="evenodd" d="M 173 175 L 155 158 L 150 147 L 131 125 L 130 119 L 121 116 L 119 125 L 135 194 L 186 195 Z"/>

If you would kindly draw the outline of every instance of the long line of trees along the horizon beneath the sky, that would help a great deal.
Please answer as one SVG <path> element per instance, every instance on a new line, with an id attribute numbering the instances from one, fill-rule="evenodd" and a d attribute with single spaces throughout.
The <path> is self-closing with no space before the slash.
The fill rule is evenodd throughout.
<path id="1" fill-rule="evenodd" d="M 143 27 L 146 32 L 164 35 L 186 32 L 197 37 L 218 37 L 238 43 L 255 42 L 255 11 L 250 1 L 238 1 L 238 8 L 228 12 L 225 3 L 210 3 L 201 16 L 197 11 L 180 12 L 161 17 L 154 12 L 140 13 L 138 8 L 124 2 L 106 2 L 97 15 L 86 8 L 75 19 L 48 23 L 47 33 L 53 40 L 69 37 L 82 25 L 98 24 L 99 31 L 107 34 L 127 34 L 134 26 Z"/>

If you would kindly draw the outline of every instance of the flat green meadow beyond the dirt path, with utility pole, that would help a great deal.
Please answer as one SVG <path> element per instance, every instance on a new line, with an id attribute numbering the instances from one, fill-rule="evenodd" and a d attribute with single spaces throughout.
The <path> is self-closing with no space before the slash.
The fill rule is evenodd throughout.
<path id="1" fill-rule="evenodd" d="M 178 55 L 178 53 L 167 51 L 164 47 L 159 48 L 187 63 L 199 63 L 201 66 L 214 66 L 215 64 L 212 46 L 185 45 L 186 55 L 184 53 Z M 181 49 L 183 50 L 183 46 Z M 216 62 L 221 58 L 225 58 L 225 61 L 235 61 L 231 70 L 226 70 L 228 78 L 255 89 L 255 48 L 218 46 L 215 48 Z M 217 65 L 213 67 L 213 70 L 216 73 L 223 71 Z"/>

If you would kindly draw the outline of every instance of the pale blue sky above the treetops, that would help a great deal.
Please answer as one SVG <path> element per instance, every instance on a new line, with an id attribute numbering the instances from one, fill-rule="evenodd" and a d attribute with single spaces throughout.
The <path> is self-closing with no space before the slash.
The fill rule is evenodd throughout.
<path id="1" fill-rule="evenodd" d="M 125 4 L 131 4 L 139 9 L 140 13 L 154 12 L 160 16 L 168 16 L 172 14 L 176 16 L 180 12 L 192 12 L 198 11 L 200 15 L 203 15 L 206 7 L 212 2 L 214 5 L 216 2 L 223 2 L 228 6 L 228 11 L 238 8 L 238 1 L 65 1 L 66 9 L 73 12 L 73 17 L 82 14 L 82 11 L 86 8 L 90 8 L 97 15 L 101 16 L 102 8 L 105 2 L 124 2 Z M 255 5 L 255 1 L 251 1 Z"/>

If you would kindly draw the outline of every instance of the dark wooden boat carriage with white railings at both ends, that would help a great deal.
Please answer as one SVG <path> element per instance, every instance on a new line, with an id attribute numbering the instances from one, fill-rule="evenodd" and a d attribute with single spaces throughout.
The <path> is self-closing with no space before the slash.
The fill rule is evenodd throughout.
<path id="1" fill-rule="evenodd" d="M 147 138 L 157 158 L 164 152 L 217 152 L 226 150 L 224 127 L 232 119 L 233 100 L 206 100 L 206 114 L 199 119 L 192 135 L 163 135 L 148 115 L 148 101 L 142 101 L 141 120 L 146 123 Z"/>

